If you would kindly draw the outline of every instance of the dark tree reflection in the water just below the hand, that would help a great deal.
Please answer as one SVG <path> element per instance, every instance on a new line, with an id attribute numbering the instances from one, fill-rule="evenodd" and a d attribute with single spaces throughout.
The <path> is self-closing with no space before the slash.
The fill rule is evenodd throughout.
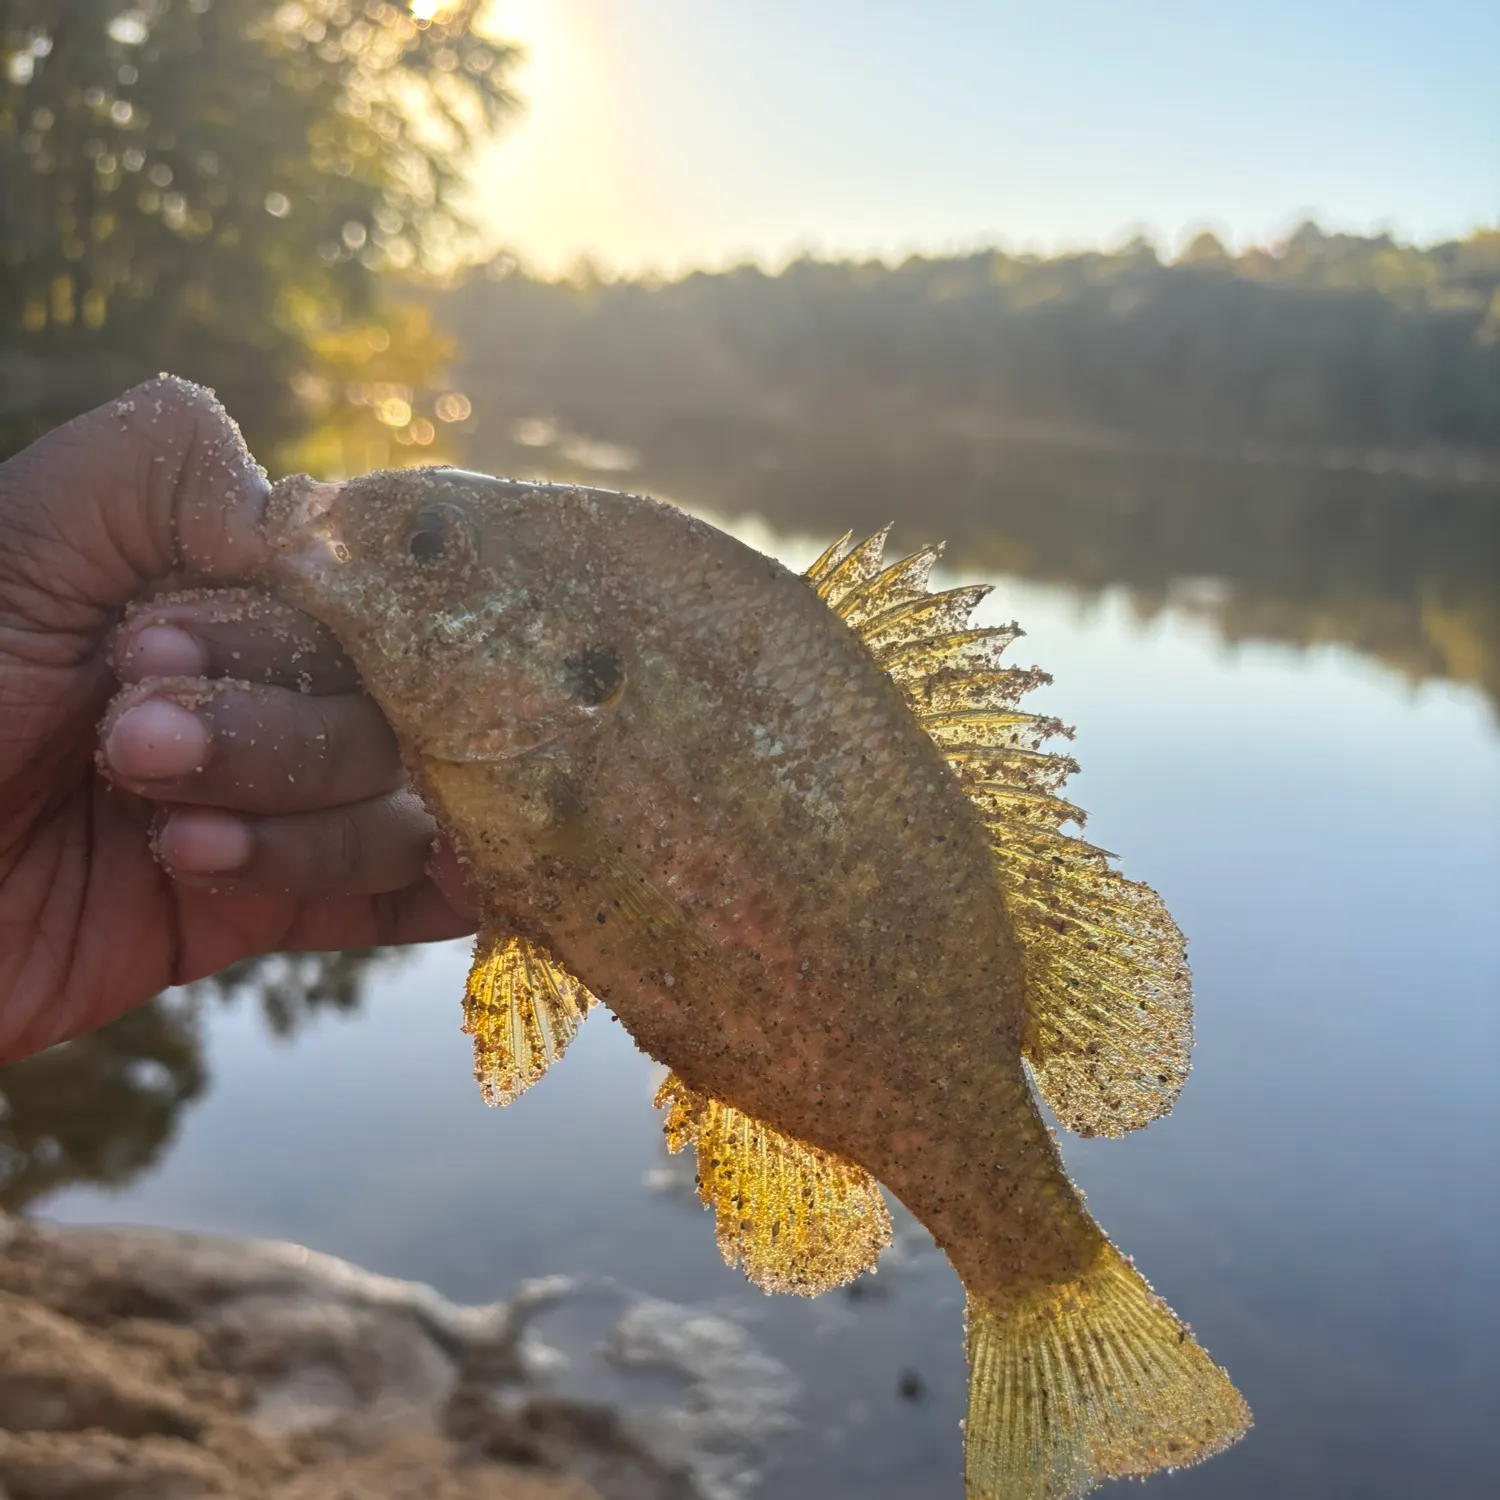
<path id="1" fill-rule="evenodd" d="M 0 1068 L 0 1209 L 76 1184 L 118 1188 L 160 1160 L 183 1108 L 208 1086 L 208 1006 L 254 999 L 278 1036 L 321 1011 L 352 1014 L 388 950 L 274 954 L 158 996 L 117 1022 Z"/>

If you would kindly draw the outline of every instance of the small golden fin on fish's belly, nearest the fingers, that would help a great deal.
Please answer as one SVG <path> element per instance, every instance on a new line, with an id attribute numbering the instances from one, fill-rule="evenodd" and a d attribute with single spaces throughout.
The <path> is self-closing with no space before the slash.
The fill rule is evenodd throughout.
<path id="1" fill-rule="evenodd" d="M 594 996 L 546 950 L 480 928 L 464 988 L 464 1032 L 486 1104 L 510 1104 L 562 1056 Z"/>

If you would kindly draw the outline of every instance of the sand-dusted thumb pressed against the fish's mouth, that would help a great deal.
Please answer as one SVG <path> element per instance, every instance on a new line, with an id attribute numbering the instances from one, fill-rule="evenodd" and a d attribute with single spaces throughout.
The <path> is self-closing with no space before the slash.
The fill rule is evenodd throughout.
<path id="1" fill-rule="evenodd" d="M 93 634 L 156 580 L 244 579 L 267 494 L 213 392 L 136 386 L 0 465 L 0 624 Z"/>

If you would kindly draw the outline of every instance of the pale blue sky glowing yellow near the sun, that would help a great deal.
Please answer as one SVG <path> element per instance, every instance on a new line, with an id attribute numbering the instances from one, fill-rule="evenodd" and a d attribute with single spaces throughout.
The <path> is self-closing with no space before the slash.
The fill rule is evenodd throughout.
<path id="1" fill-rule="evenodd" d="M 540 270 L 1500 222 L 1496 0 L 492 0 Z"/>

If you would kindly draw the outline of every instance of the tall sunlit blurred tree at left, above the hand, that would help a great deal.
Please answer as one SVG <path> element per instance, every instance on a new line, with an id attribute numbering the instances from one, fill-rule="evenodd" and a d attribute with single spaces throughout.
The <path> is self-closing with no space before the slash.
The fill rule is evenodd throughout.
<path id="1" fill-rule="evenodd" d="M 262 452 L 320 402 L 402 432 L 330 380 L 362 339 L 408 393 L 441 374 L 382 278 L 471 234 L 464 164 L 514 58 L 477 9 L 0 0 L 0 454 L 162 368 L 216 386 Z"/>

